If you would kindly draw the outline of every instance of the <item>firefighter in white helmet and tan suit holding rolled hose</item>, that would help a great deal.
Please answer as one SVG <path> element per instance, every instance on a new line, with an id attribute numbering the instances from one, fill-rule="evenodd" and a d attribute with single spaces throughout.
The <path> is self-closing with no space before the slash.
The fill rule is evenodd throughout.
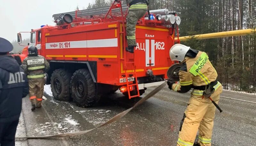
<path id="1" fill-rule="evenodd" d="M 216 80 L 217 72 L 205 52 L 182 44 L 173 45 L 170 57 L 172 61 L 179 61 L 182 65 L 179 84 L 168 80 L 169 88 L 180 93 L 193 88 L 180 122 L 177 146 L 210 146 L 216 107 L 207 97 L 211 97 L 217 104 L 220 100 L 222 85 Z M 194 144 L 198 129 L 199 140 Z"/>

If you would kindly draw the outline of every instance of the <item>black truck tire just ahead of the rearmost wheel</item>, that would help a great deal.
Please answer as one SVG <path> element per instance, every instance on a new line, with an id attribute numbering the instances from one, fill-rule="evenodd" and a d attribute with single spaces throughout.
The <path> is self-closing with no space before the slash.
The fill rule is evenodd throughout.
<path id="1" fill-rule="evenodd" d="M 52 73 L 51 88 L 52 95 L 59 101 L 70 101 L 71 73 L 65 69 L 56 69 Z"/>

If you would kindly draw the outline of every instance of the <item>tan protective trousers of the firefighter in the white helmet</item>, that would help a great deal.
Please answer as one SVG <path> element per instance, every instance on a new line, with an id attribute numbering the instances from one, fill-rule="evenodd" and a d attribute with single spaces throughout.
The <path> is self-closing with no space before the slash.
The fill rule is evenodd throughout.
<path id="1" fill-rule="evenodd" d="M 218 104 L 222 86 L 211 95 L 211 98 Z M 194 94 L 196 93 L 196 95 Z M 188 101 L 187 109 L 180 122 L 180 132 L 177 146 L 193 146 L 197 131 L 199 129 L 200 146 L 211 146 L 213 120 L 216 107 L 209 98 L 199 95 L 200 91 L 192 91 Z M 202 91 L 203 94 L 203 91 Z"/>

